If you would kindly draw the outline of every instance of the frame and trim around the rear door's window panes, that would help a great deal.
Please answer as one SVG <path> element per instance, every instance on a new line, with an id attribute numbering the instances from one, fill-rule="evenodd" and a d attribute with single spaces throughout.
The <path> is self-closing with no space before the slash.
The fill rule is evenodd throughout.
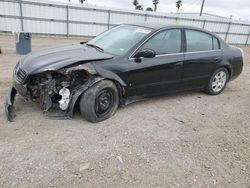
<path id="1" fill-rule="evenodd" d="M 186 37 L 186 31 L 187 31 L 187 30 L 198 31 L 198 32 L 201 32 L 201 33 L 210 35 L 211 38 L 212 38 L 212 50 L 200 50 L 200 51 L 188 52 L 188 51 L 187 51 L 187 37 Z M 183 32 L 184 32 L 184 46 L 185 46 L 185 47 L 184 47 L 184 53 L 185 53 L 185 54 L 186 54 L 186 53 L 210 52 L 210 51 L 220 51 L 220 50 L 221 50 L 220 40 L 219 40 L 216 36 L 214 36 L 214 35 L 212 35 L 212 34 L 206 32 L 206 31 L 202 31 L 202 30 L 199 30 L 199 29 L 193 29 L 193 28 L 191 28 L 191 29 L 189 29 L 189 28 L 184 28 L 184 31 L 183 31 Z M 218 49 L 214 49 L 214 38 L 218 41 L 218 45 L 219 45 L 219 48 L 218 48 Z"/>

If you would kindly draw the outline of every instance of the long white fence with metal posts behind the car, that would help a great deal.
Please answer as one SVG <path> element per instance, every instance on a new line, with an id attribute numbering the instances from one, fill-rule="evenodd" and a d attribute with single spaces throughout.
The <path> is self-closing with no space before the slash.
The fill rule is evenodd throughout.
<path id="1" fill-rule="evenodd" d="M 0 0 L 0 32 L 93 37 L 128 22 L 166 22 L 207 29 L 232 44 L 250 44 L 250 24 L 52 1 Z"/>

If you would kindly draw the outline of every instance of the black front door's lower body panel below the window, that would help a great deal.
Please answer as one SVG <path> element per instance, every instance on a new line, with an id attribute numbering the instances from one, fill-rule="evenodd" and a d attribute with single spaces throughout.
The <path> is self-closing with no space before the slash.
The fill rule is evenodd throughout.
<path id="1" fill-rule="evenodd" d="M 172 54 L 135 59 L 128 62 L 129 96 L 151 96 L 170 90 L 178 90 L 181 84 L 184 55 Z M 157 75 L 157 76 L 156 76 Z"/>

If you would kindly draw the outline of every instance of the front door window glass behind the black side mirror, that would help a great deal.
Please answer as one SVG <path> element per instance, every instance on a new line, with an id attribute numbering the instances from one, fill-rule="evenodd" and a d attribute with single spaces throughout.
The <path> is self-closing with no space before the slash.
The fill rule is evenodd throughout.
<path id="1" fill-rule="evenodd" d="M 170 29 L 153 36 L 144 44 L 143 49 L 152 49 L 156 55 L 181 52 L 181 30 Z"/>

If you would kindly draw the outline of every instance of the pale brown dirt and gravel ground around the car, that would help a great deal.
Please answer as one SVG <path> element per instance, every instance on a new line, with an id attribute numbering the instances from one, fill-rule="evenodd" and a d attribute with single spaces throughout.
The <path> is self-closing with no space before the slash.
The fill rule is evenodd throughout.
<path id="1" fill-rule="evenodd" d="M 77 40 L 33 38 L 33 49 Z M 250 187 L 250 48 L 242 75 L 223 94 L 188 92 L 141 101 L 91 124 L 47 119 L 16 99 L 3 102 L 14 38 L 0 36 L 0 187 Z"/>

